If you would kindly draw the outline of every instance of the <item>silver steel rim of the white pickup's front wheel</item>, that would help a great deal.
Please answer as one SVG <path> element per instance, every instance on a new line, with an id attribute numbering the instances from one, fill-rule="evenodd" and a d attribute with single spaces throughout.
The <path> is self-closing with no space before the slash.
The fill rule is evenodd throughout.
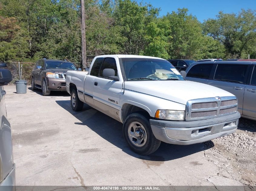
<path id="1" fill-rule="evenodd" d="M 128 126 L 128 137 L 136 147 L 143 147 L 147 142 L 145 127 L 138 121 L 131 122 Z"/>

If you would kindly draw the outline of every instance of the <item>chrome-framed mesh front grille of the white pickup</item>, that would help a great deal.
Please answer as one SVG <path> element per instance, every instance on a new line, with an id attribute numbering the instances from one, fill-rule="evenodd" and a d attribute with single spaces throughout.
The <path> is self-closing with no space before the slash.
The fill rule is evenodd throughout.
<path id="1" fill-rule="evenodd" d="M 186 121 L 211 119 L 237 112 L 235 96 L 210 97 L 189 100 L 186 105 Z"/>

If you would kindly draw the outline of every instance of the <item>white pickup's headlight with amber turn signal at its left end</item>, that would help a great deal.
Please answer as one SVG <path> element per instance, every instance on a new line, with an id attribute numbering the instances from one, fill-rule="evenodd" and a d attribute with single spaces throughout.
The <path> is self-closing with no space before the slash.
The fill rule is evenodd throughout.
<path id="1" fill-rule="evenodd" d="M 157 110 L 155 118 L 175 121 L 184 121 L 185 111 Z"/>

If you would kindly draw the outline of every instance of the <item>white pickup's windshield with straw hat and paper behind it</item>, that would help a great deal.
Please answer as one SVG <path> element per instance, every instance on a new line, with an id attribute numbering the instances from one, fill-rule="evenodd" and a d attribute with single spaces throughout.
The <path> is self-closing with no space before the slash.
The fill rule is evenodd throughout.
<path id="1" fill-rule="evenodd" d="M 148 58 L 122 58 L 127 81 L 185 80 L 167 60 Z"/>

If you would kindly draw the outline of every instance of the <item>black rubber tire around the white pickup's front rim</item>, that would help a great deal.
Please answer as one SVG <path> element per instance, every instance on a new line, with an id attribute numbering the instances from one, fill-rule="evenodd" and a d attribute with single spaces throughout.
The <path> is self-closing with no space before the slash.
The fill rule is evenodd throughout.
<path id="1" fill-rule="evenodd" d="M 143 146 L 136 146 L 134 141 L 132 141 L 133 138 L 132 140 L 130 140 L 131 136 L 129 135 L 128 130 L 130 129 L 129 126 L 130 125 L 133 126 L 134 123 L 140 123 L 145 129 L 146 142 L 144 143 L 144 140 L 142 141 L 143 144 L 145 144 L 145 145 L 142 144 Z M 131 127 L 131 129 L 132 128 L 133 127 Z M 133 131 L 135 132 L 135 130 Z M 123 125 L 123 134 L 124 134 L 125 141 L 127 142 L 128 146 L 131 148 L 131 150 L 141 155 L 148 155 L 155 152 L 161 144 L 161 141 L 156 139 L 152 132 L 149 119 L 146 117 L 146 115 L 143 115 L 141 113 L 131 113 L 130 115 L 127 116 L 127 118 L 125 119 L 125 123 Z M 142 136 L 144 136 L 144 134 Z M 134 140 L 136 140 L 136 138 Z"/>

